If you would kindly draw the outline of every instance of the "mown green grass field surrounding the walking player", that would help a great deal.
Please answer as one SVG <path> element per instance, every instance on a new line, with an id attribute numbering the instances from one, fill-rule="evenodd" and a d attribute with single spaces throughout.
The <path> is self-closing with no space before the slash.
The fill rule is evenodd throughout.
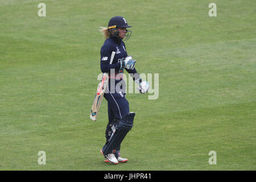
<path id="1" fill-rule="evenodd" d="M 0 170 L 255 170 L 255 10 L 254 0 L 0 0 Z M 133 26 L 137 71 L 159 73 L 159 97 L 126 94 L 136 113 L 121 147 L 129 162 L 114 166 L 100 154 L 106 100 L 97 122 L 89 114 L 98 29 L 115 15 Z"/>

